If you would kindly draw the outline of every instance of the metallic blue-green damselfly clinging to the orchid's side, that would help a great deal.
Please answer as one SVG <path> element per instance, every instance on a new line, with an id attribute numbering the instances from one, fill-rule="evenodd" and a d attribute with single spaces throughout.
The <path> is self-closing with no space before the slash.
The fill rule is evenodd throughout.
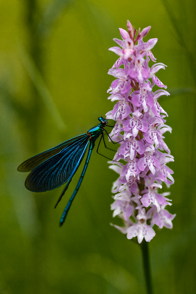
<path id="1" fill-rule="evenodd" d="M 85 134 L 74 137 L 68 141 L 63 142 L 62 144 L 56 147 L 53 147 L 47 151 L 39 153 L 27 159 L 26 161 L 21 163 L 21 165 L 18 167 L 18 171 L 22 171 L 22 172 L 31 171 L 31 173 L 29 173 L 25 181 L 25 187 L 29 191 L 33 191 L 33 192 L 50 191 L 67 182 L 65 188 L 63 189 L 56 203 L 56 206 L 57 206 L 57 204 L 59 203 L 59 201 L 61 201 L 61 198 L 65 194 L 65 191 L 68 189 L 68 186 L 71 183 L 71 180 L 74 174 L 78 170 L 78 167 L 80 166 L 89 145 L 88 154 L 87 154 L 86 161 L 83 167 L 83 171 L 79 178 L 78 184 L 63 211 L 63 214 L 60 220 L 60 226 L 63 225 L 65 218 L 67 216 L 67 213 L 71 207 L 71 203 L 73 202 L 73 199 L 75 198 L 76 193 L 78 192 L 78 189 L 80 188 L 80 185 L 82 183 L 84 174 L 86 172 L 86 169 L 91 157 L 91 153 L 95 146 L 95 141 L 99 138 L 100 135 L 101 137 L 98 143 L 97 153 L 100 154 L 98 150 L 99 150 L 99 146 L 102 139 L 103 139 L 105 148 L 110 149 L 106 147 L 104 136 L 103 136 L 104 135 L 103 132 L 105 131 L 107 136 L 110 138 L 108 132 L 105 130 L 105 127 L 108 126 L 107 125 L 108 121 L 102 116 L 100 116 L 98 120 L 100 121 L 98 126 L 87 131 Z M 113 128 L 113 126 L 108 126 L 108 127 Z M 113 144 L 119 143 L 119 142 L 113 142 L 111 138 L 110 138 L 110 141 Z"/>

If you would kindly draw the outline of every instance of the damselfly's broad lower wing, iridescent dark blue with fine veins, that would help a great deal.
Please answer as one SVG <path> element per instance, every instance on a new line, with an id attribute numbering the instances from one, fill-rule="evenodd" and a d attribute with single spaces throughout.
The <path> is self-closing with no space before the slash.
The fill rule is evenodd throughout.
<path id="1" fill-rule="evenodd" d="M 70 178 L 78 161 L 81 163 L 85 154 L 83 151 L 89 143 L 88 138 L 85 134 L 66 146 L 60 153 L 34 168 L 26 178 L 25 187 L 33 192 L 45 192 L 64 184 Z"/>

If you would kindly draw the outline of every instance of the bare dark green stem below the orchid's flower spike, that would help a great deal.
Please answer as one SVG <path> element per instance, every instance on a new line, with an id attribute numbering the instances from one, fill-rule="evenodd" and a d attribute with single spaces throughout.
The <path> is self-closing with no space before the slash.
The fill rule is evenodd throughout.
<path id="1" fill-rule="evenodd" d="M 142 243 L 140 244 L 140 247 L 142 249 L 146 291 L 147 291 L 147 294 L 153 294 L 148 242 L 146 242 L 145 239 L 143 239 Z"/>

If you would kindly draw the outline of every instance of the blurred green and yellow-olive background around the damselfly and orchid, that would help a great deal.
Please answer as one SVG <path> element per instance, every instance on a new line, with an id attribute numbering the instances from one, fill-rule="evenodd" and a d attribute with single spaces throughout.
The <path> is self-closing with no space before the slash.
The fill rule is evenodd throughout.
<path id="1" fill-rule="evenodd" d="M 0 2 L 0 294 L 145 293 L 140 248 L 109 225 L 112 182 L 118 177 L 93 152 L 66 223 L 59 218 L 78 181 L 31 193 L 17 166 L 97 125 L 111 110 L 108 51 L 126 29 L 152 26 L 160 98 L 173 129 L 170 163 L 173 229 L 155 228 L 150 257 L 155 294 L 195 290 L 195 2 L 192 0 L 1 0 Z M 166 188 L 164 186 L 164 191 Z"/>

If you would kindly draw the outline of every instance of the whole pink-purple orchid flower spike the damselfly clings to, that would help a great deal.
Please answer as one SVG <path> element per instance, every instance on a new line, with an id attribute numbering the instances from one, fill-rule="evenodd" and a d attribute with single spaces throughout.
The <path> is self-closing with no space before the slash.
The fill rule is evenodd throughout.
<path id="1" fill-rule="evenodd" d="M 113 226 L 127 234 L 128 239 L 137 236 L 141 243 L 143 238 L 149 242 L 155 236 L 153 225 L 172 228 L 175 217 L 165 210 L 166 205 L 171 205 L 167 198 L 170 193 L 158 190 L 164 183 L 167 188 L 174 183 L 173 171 L 167 166 L 174 158 L 164 141 L 165 133 L 171 133 L 172 129 L 166 125 L 168 114 L 158 102 L 161 96 L 170 94 L 155 76 L 165 65 L 155 63 L 149 67 L 150 59 L 156 62 L 152 49 L 158 40 L 143 41 L 150 26 L 141 33 L 139 29 L 137 34 L 127 21 L 127 29 L 119 29 L 122 40 L 114 39 L 122 49 L 117 46 L 109 49 L 119 56 L 108 72 L 117 78 L 108 89 L 108 99 L 117 103 L 106 113 L 106 118 L 115 120 L 110 138 L 120 144 L 109 162 L 110 169 L 119 175 L 112 187 L 115 202 L 111 209 L 113 216 L 118 215 L 125 225 Z M 159 89 L 154 92 L 155 85 Z"/>

